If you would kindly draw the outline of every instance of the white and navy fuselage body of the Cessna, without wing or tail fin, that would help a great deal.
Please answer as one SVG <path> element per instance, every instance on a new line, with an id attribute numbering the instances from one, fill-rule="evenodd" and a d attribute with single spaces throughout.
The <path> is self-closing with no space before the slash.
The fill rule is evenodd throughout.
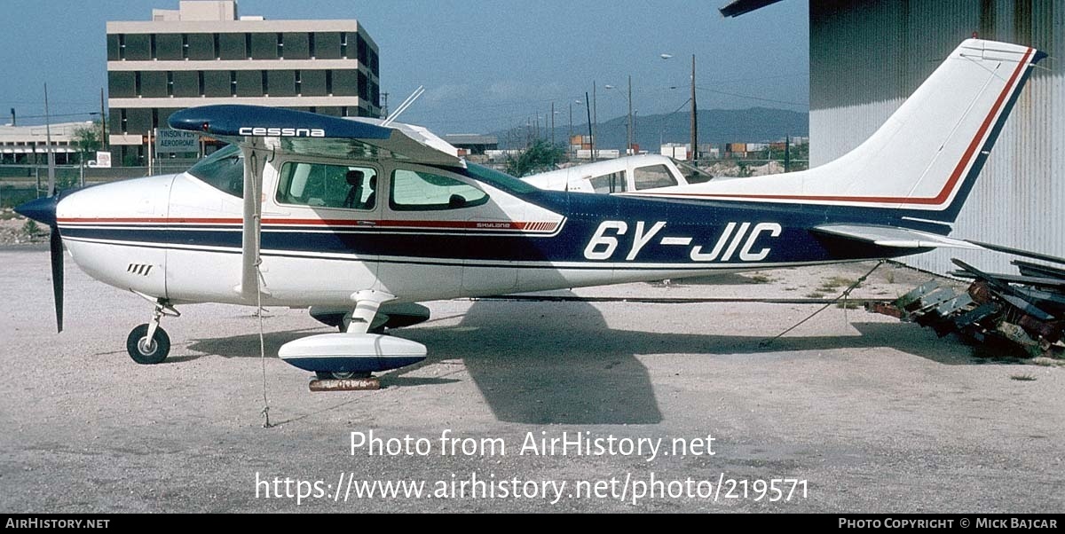
<path id="1" fill-rule="evenodd" d="M 311 205 L 328 199 L 308 203 L 279 193 L 284 164 L 300 162 L 264 171 L 268 305 L 343 306 L 364 289 L 428 301 L 898 253 L 841 249 L 809 231 L 825 222 L 885 223 L 876 210 L 519 190 L 484 180 L 477 168 L 313 160 L 373 172 L 379 201 L 361 210 Z M 405 208 L 394 198 L 406 195 L 396 193 L 403 185 L 393 180 L 412 171 L 461 182 L 487 200 Z M 75 261 L 105 283 L 173 302 L 252 304 L 237 290 L 242 202 L 181 173 L 79 190 L 56 213 Z"/>

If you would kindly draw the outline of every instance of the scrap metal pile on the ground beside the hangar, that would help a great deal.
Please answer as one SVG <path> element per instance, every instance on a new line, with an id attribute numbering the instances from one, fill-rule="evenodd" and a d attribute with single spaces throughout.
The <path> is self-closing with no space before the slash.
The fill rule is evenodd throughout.
<path id="1" fill-rule="evenodd" d="M 993 250 L 1065 264 L 1065 258 L 984 245 Z M 960 293 L 931 280 L 892 303 L 868 303 L 871 312 L 955 333 L 982 345 L 1019 349 L 1031 357 L 1062 357 L 1065 345 L 1065 269 L 1014 260 L 1019 274 L 983 272 L 961 260 L 951 276 L 972 280 Z"/>

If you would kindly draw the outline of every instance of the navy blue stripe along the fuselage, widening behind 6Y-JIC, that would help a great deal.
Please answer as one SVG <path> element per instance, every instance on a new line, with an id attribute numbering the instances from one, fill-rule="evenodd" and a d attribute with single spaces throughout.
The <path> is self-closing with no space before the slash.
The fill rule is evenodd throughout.
<path id="1" fill-rule="evenodd" d="M 523 197 L 566 215 L 562 229 L 554 236 L 543 236 L 477 230 L 404 231 L 264 224 L 262 249 L 279 255 L 350 254 L 366 260 L 392 256 L 428 263 L 581 263 L 591 267 L 596 263 L 630 262 L 651 268 L 655 264 L 742 264 L 740 252 L 744 246 L 749 256 L 752 255 L 751 252 L 766 250 L 764 257 L 752 263 L 774 264 L 887 257 L 914 252 L 912 249 L 875 247 L 829 238 L 809 230 L 825 223 L 898 226 L 946 233 L 938 224 L 914 221 L 903 224 L 897 218 L 885 216 L 890 211 L 878 208 L 634 199 L 548 191 L 537 191 Z M 623 221 L 627 228 L 624 232 L 613 229 L 597 234 L 604 221 Z M 640 222 L 644 233 L 637 235 Z M 649 237 L 649 232 L 658 222 L 663 226 Z M 752 229 L 758 223 L 777 224 L 780 234 L 764 232 L 752 237 Z M 739 235 L 744 226 L 747 234 Z M 730 227 L 733 232 L 726 235 Z M 236 224 L 61 224 L 61 232 L 63 236 L 76 239 L 200 250 L 239 250 L 242 240 L 242 230 Z M 587 255 L 590 241 L 596 235 L 616 241 L 616 250 L 606 257 Z M 640 237 L 643 238 L 642 245 L 639 243 Z M 748 239 L 751 239 L 750 243 Z M 675 245 L 685 240 L 688 245 Z M 718 258 L 708 262 L 693 260 L 693 255 L 698 255 L 692 252 L 694 247 L 701 247 L 705 260 L 707 252 L 719 240 L 723 240 L 725 247 Z M 733 244 L 733 240 L 736 243 Z M 607 248 L 607 245 L 603 245 L 592 250 L 603 252 Z M 728 248 L 733 252 L 726 257 L 725 251 Z"/>

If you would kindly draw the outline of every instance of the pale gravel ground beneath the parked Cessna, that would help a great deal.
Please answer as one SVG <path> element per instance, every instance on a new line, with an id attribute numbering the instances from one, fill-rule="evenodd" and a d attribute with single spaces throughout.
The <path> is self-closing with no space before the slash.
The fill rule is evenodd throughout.
<path id="1" fill-rule="evenodd" d="M 429 360 L 378 391 L 308 391 L 309 377 L 259 358 L 248 308 L 182 308 L 164 327 L 170 357 L 124 350 L 150 314 L 136 296 L 67 263 L 66 330 L 55 334 L 46 248 L 0 249 L 0 511 L 3 512 L 1060 512 L 1065 507 L 1065 369 L 976 357 L 952 338 L 861 310 L 830 307 L 769 347 L 812 304 L 446 301 L 396 331 Z M 584 296 L 835 295 L 868 264 L 791 269 Z M 861 297 L 927 280 L 884 267 Z M 826 286 L 835 284 L 835 289 Z M 824 287 L 822 290 L 821 288 Z M 306 312 L 272 308 L 266 354 L 325 333 Z M 263 365 L 264 364 L 264 365 Z M 263 383 L 271 421 L 262 428 Z M 1025 379 L 1025 380 L 1017 380 Z M 456 437 L 501 438 L 506 454 L 440 454 Z M 350 432 L 430 439 L 420 455 L 350 454 Z M 519 454 L 524 439 L 714 437 L 714 455 Z M 544 433 L 544 434 L 541 434 Z M 260 480 L 321 480 L 330 498 L 264 498 Z M 553 498 L 366 498 L 357 480 L 568 481 Z M 807 481 L 789 502 L 637 499 L 630 482 Z M 454 477 L 454 478 L 453 478 Z M 619 497 L 570 497 L 618 480 Z M 295 484 L 295 483 L 294 483 Z M 523 486 L 524 487 L 524 486 Z M 542 487 L 542 486 L 541 486 Z M 621 488 L 626 498 L 620 498 Z M 706 487 L 705 485 L 703 486 Z M 755 486 L 751 486 L 754 488 Z M 292 486 L 293 493 L 296 486 Z M 271 488 L 275 489 L 274 487 Z M 280 486 L 283 491 L 283 485 Z M 260 493 L 257 498 L 257 490 Z M 524 489 L 523 489 L 524 490 Z M 698 493 L 698 487 L 697 487 Z M 740 494 L 737 488 L 734 494 Z M 496 494 L 498 496 L 498 494 Z M 609 491 L 607 491 L 609 495 Z"/>

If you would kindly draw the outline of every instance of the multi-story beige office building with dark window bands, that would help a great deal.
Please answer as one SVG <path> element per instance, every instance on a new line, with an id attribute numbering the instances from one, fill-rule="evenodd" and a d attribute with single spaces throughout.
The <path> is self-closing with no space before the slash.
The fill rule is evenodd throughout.
<path id="1" fill-rule="evenodd" d="M 380 114 L 378 48 L 357 20 L 239 17 L 236 2 L 181 1 L 151 21 L 108 22 L 110 143 L 143 165 L 146 137 L 185 107 L 242 103 Z"/>

